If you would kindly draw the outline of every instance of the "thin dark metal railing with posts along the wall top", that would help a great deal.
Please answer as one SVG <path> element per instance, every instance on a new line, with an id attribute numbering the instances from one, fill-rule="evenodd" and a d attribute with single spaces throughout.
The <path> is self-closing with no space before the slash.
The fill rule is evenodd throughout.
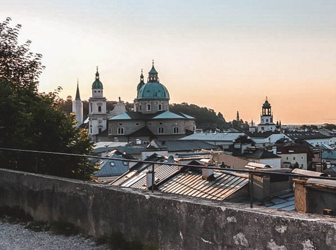
<path id="1" fill-rule="evenodd" d="M 143 160 L 129 160 L 129 159 L 120 159 L 120 158 L 112 158 L 112 157 L 103 157 L 103 156 L 95 156 L 95 155 L 81 155 L 81 154 L 68 154 L 68 153 L 59 153 L 59 152 L 48 152 L 48 151 L 39 151 L 39 150 L 26 150 L 26 149 L 14 149 L 14 148 L 0 148 L 0 150 L 4 151 L 17 151 L 17 152 L 27 152 L 27 153 L 38 153 L 38 154 L 49 154 L 49 155 L 63 155 L 63 156 L 73 156 L 73 157 L 86 157 L 92 159 L 105 159 L 105 160 L 114 160 L 114 161 L 123 161 L 123 162 L 135 162 L 152 165 L 152 186 L 151 191 L 154 192 L 154 183 L 155 183 L 155 175 L 154 175 L 154 166 L 157 165 L 168 165 L 168 166 L 178 166 L 178 167 L 196 167 L 196 168 L 205 168 L 205 169 L 217 169 L 217 170 L 225 170 L 232 172 L 240 172 L 240 173 L 248 173 L 250 178 L 250 186 L 249 186 L 249 201 L 250 208 L 253 208 L 253 179 L 254 174 L 262 174 L 262 175 L 284 175 L 291 176 L 297 178 L 311 178 L 311 179 L 322 179 L 322 180 L 336 180 L 335 177 L 326 177 L 326 176 L 312 176 L 312 175 L 302 175 L 295 173 L 284 173 L 284 172 L 274 172 L 267 170 L 250 170 L 250 169 L 236 169 L 236 168 L 222 168 L 222 167 L 213 167 L 213 166 L 199 166 L 199 165 L 188 165 L 188 164 L 179 164 L 179 163 L 160 163 L 160 162 L 152 162 L 152 161 L 143 161 Z M 36 166 L 37 168 L 37 166 Z M 273 168 L 274 169 L 274 168 Z M 85 167 L 84 167 L 84 175 L 85 175 Z M 85 176 L 83 181 L 85 181 Z"/>

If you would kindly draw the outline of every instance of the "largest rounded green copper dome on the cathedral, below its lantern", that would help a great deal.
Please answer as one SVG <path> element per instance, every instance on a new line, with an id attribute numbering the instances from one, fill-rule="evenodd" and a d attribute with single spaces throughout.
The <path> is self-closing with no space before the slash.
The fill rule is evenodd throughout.
<path id="1" fill-rule="evenodd" d="M 145 83 L 137 94 L 137 99 L 167 99 L 169 93 L 166 87 L 158 82 Z"/>

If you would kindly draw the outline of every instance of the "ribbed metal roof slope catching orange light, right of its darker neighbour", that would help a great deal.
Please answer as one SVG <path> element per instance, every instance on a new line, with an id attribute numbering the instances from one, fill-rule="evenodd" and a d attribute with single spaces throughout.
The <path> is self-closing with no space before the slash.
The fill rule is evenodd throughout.
<path id="1" fill-rule="evenodd" d="M 158 190 L 193 197 L 224 200 L 248 185 L 248 176 L 233 172 L 214 171 L 213 180 L 202 178 L 201 169 L 182 171 L 158 187 Z"/>

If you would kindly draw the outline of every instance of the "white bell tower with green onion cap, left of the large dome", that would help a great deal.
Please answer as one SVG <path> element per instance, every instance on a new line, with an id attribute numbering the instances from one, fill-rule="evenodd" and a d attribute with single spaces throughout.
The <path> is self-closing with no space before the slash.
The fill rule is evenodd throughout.
<path id="1" fill-rule="evenodd" d="M 89 99 L 89 135 L 97 135 L 106 130 L 106 98 L 103 97 L 103 84 L 99 81 L 98 67 L 92 83 L 92 97 Z"/>

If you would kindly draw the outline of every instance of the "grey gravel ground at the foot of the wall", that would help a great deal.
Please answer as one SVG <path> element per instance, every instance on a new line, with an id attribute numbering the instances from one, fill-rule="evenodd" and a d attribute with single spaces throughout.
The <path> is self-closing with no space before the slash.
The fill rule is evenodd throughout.
<path id="1" fill-rule="evenodd" d="M 55 235 L 51 231 L 34 232 L 22 224 L 10 224 L 0 219 L 0 250 L 108 250 L 96 246 L 90 238 L 81 235 Z"/>

